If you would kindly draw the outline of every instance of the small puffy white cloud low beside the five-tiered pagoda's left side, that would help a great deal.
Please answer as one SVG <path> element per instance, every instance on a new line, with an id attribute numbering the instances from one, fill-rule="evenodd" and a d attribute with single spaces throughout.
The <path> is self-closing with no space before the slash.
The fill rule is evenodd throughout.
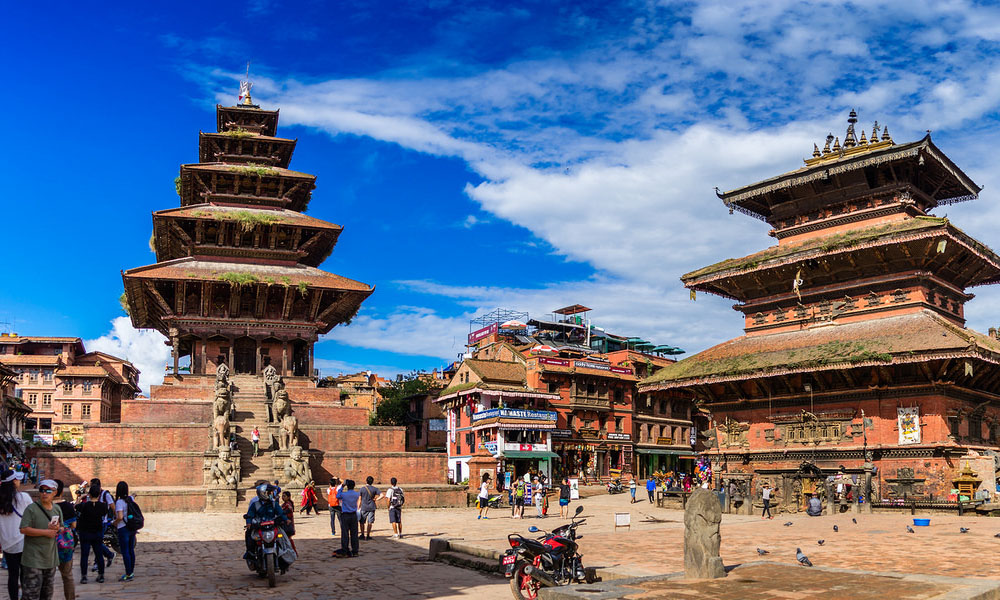
<path id="1" fill-rule="evenodd" d="M 88 351 L 100 351 L 124 358 L 139 369 L 139 387 L 149 395 L 151 385 L 163 382 L 163 369 L 170 360 L 167 338 L 153 329 L 136 329 L 128 317 L 111 321 L 111 331 L 94 340 L 86 340 Z"/>

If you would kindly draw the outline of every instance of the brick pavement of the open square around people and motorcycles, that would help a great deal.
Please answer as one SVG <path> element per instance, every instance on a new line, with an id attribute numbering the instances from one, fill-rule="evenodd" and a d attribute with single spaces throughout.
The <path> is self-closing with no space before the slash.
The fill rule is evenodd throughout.
<path id="1" fill-rule="evenodd" d="M 683 568 L 682 512 L 647 503 L 629 505 L 627 496 L 595 496 L 582 501 L 587 523 L 581 549 L 589 566 L 614 569 L 628 575 L 677 572 Z M 629 530 L 613 528 L 615 511 L 630 512 Z M 525 509 L 528 517 L 532 508 Z M 548 529 L 564 522 L 557 517 L 512 520 L 509 511 L 491 510 L 479 521 L 476 511 L 463 509 L 410 509 L 405 511 L 407 536 L 389 539 L 386 513 L 380 510 L 373 535 L 362 542 L 357 559 L 330 559 L 326 513 L 299 518 L 296 543 L 302 558 L 285 577 L 279 576 L 277 592 L 297 600 L 352 595 L 375 598 L 385 594 L 413 598 L 510 598 L 502 578 L 439 563 L 428 563 L 431 537 L 463 539 L 466 543 L 502 550 L 511 532 L 527 533 L 531 525 Z M 858 524 L 851 522 L 856 516 Z M 792 521 L 791 527 L 782 523 Z M 829 517 L 777 516 L 773 521 L 725 515 L 722 557 L 727 566 L 760 559 L 756 548 L 767 549 L 765 558 L 794 566 L 795 547 L 801 546 L 818 566 L 865 571 L 923 573 L 955 577 L 1000 578 L 1000 520 L 988 517 L 931 515 L 931 527 L 907 534 L 909 515 L 838 515 Z M 837 524 L 840 532 L 834 533 Z M 969 527 L 967 534 L 959 526 Z M 242 555 L 242 521 L 235 514 L 150 513 L 140 534 L 135 581 L 128 584 L 90 583 L 77 586 L 81 599 L 150 598 L 182 600 L 200 598 L 273 598 L 266 583 L 250 573 Z M 820 547 L 816 540 L 825 539 Z M 339 542 L 338 542 L 339 545 Z M 115 560 L 108 579 L 122 573 Z M 344 589 L 332 586 L 341 584 Z M 61 584 L 57 584 L 61 587 Z M 61 598 L 61 589 L 57 590 Z"/>

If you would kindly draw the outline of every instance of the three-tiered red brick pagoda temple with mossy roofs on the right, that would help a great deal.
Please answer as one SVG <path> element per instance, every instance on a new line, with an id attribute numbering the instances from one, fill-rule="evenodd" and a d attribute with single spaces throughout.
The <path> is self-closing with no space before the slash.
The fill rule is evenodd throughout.
<path id="1" fill-rule="evenodd" d="M 829 476 L 856 497 L 866 474 L 876 501 L 943 501 L 966 464 L 992 492 L 980 456 L 1000 444 L 1000 341 L 965 328 L 964 307 L 1000 258 L 930 215 L 980 188 L 930 135 L 896 144 L 848 121 L 803 168 L 720 194 L 778 243 L 681 279 L 736 300 L 745 335 L 640 391 L 699 401 L 716 473 L 769 480 L 784 508 Z"/>

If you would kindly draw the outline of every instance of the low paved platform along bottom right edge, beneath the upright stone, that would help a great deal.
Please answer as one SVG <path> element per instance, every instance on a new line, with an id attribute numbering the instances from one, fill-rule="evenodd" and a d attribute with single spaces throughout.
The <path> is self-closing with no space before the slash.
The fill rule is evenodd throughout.
<path id="1" fill-rule="evenodd" d="M 676 574 L 550 588 L 540 596 L 543 600 L 992 600 L 1000 598 L 1000 581 L 756 562 L 731 569 L 723 579 L 692 581 Z"/>

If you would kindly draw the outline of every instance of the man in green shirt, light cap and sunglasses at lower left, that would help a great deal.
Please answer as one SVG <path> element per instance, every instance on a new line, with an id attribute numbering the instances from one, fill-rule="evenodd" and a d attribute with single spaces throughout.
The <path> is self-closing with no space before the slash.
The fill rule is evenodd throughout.
<path id="1" fill-rule="evenodd" d="M 58 487 L 55 481 L 43 479 L 38 484 L 38 501 L 29 504 L 21 517 L 22 600 L 52 600 L 59 567 L 56 536 L 63 525 L 62 510 L 53 503 Z"/>

